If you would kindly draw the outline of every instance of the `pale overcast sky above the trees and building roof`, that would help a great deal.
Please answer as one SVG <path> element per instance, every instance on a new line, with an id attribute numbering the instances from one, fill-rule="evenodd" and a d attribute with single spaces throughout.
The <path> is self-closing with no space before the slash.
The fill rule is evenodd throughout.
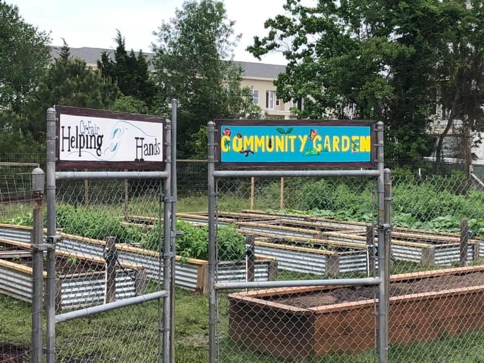
<path id="1" fill-rule="evenodd" d="M 285 0 L 225 0 L 227 16 L 235 21 L 235 33 L 242 38 L 235 49 L 236 61 L 258 62 L 245 49 L 254 35 L 265 36 L 264 22 L 283 12 Z M 7 0 L 18 6 L 22 17 L 41 30 L 51 31 L 52 45 L 114 48 L 115 29 L 126 38 L 128 49 L 151 51 L 153 31 L 174 16 L 183 0 Z M 262 57 L 263 63 L 282 64 L 282 54 Z"/>

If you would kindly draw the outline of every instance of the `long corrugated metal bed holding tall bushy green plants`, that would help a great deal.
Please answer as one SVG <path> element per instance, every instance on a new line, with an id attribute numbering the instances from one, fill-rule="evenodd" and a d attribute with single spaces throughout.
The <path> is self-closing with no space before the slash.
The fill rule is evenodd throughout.
<path id="1" fill-rule="evenodd" d="M 0 224 L 0 238 L 10 238 L 29 241 L 32 228 Z M 100 258 L 106 246 L 105 241 L 85 238 L 66 233 L 58 233 L 61 237 L 57 241 L 57 249 L 72 251 L 83 256 Z M 116 244 L 119 261 L 127 266 L 143 266 L 148 279 L 157 281 L 160 269 L 159 253 L 134 247 L 129 244 Z M 201 293 L 208 293 L 208 261 L 186 258 L 182 262 L 180 256 L 175 258 L 175 283 L 181 288 Z M 162 261 L 161 261 L 162 267 Z M 163 270 L 161 269 L 161 276 Z M 277 260 L 272 257 L 256 255 L 254 266 L 254 281 L 273 281 L 277 279 Z M 218 281 L 234 282 L 246 281 L 245 261 L 233 263 L 231 261 L 218 264 Z"/>

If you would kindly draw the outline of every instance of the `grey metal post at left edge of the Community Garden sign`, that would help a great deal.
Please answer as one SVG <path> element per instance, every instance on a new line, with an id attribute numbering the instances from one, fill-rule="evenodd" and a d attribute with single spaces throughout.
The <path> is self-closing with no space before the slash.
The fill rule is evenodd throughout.
<path id="1" fill-rule="evenodd" d="M 216 356 L 216 328 L 217 328 L 217 291 L 215 290 L 215 273 L 217 268 L 217 241 L 215 240 L 215 123 L 208 123 L 208 283 L 209 283 L 209 306 L 208 306 L 208 338 L 209 338 L 209 363 L 215 363 Z"/>

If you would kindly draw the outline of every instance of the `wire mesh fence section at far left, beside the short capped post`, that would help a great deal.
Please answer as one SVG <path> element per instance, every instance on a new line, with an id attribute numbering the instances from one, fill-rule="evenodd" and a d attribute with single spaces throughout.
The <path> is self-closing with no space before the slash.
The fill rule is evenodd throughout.
<path id="1" fill-rule="evenodd" d="M 34 194 L 31 181 L 30 173 L 4 174 L 0 177 L 1 223 L 28 221 L 32 225 L 32 210 L 38 195 Z M 10 234 L 5 235 L 0 232 L 0 361 L 2 362 L 31 361 L 32 351 L 35 348 L 32 344 L 31 302 L 35 298 L 32 280 L 30 238 L 17 241 Z M 37 329 L 41 327 L 40 325 Z M 41 342 L 36 343 L 41 345 Z"/>

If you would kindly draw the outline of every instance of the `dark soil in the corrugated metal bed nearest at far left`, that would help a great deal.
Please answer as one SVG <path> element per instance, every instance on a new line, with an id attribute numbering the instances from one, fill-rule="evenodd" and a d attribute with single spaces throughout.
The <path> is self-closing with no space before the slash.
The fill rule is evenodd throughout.
<path id="1" fill-rule="evenodd" d="M 22 249 L 20 247 L 0 244 L 0 249 L 2 251 L 28 251 L 26 249 Z M 10 262 L 18 263 L 21 265 L 32 267 L 32 258 L 31 257 L 15 257 L 7 259 Z M 45 261 L 44 255 L 44 264 L 43 264 L 44 271 L 47 271 L 47 263 Z M 104 265 L 98 264 L 93 261 L 87 260 L 80 260 L 77 258 L 66 258 L 66 257 L 59 257 L 57 256 L 55 262 L 55 269 L 58 275 L 68 275 L 68 274 L 77 274 L 77 273 L 84 273 L 84 272 L 93 272 L 93 271 L 104 271 Z M 1 360 L 0 360 L 1 361 Z"/>

